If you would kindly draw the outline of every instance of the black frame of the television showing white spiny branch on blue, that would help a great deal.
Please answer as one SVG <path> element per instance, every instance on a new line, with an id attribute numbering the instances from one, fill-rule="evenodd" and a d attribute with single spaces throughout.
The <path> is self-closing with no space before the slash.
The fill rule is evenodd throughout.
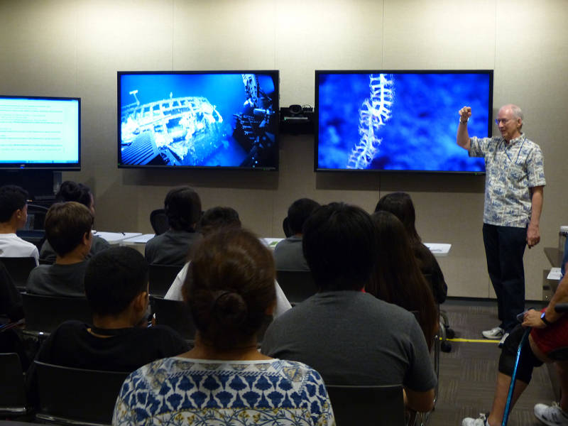
<path id="1" fill-rule="evenodd" d="M 412 169 L 357 169 L 357 168 L 320 168 L 318 161 L 318 153 L 320 148 L 320 84 L 319 77 L 324 74 L 481 74 L 488 75 L 488 120 L 487 120 L 487 135 L 491 137 L 493 129 L 493 70 L 315 70 L 315 117 L 314 117 L 314 171 L 315 172 L 346 172 L 346 173 L 444 173 L 444 174 L 459 174 L 459 175 L 485 175 L 485 170 L 412 170 Z M 456 115 L 448 117 L 448 119 L 456 119 Z M 476 136 L 476 135 L 471 135 Z M 464 155 L 467 155 L 464 152 Z"/>

